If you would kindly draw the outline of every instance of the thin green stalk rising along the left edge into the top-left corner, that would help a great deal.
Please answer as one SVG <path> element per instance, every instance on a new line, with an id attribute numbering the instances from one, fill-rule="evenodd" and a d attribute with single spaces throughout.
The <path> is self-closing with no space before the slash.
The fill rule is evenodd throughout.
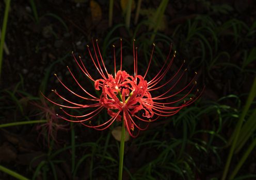
<path id="1" fill-rule="evenodd" d="M 4 21 L 3 21 L 2 33 L 1 33 L 1 41 L 0 41 L 0 78 L 1 78 L 1 69 L 2 69 L 2 62 L 3 62 L 3 52 L 4 52 L 4 44 L 5 44 L 5 33 L 6 33 L 6 27 L 7 27 L 10 3 L 11 3 L 11 0 L 7 0 L 6 1 L 5 15 L 4 15 Z"/>

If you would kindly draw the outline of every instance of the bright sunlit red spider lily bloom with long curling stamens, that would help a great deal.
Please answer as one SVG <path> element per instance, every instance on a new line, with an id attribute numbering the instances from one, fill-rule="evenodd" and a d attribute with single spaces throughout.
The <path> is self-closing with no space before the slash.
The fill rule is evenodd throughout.
<path id="1" fill-rule="evenodd" d="M 134 40 L 135 41 L 135 40 Z M 198 99 L 201 95 L 198 89 L 195 89 L 196 81 L 195 77 L 180 91 L 170 94 L 171 90 L 177 85 L 177 83 L 182 79 L 185 74 L 185 70 L 181 70 L 184 63 L 182 63 L 181 67 L 178 71 L 169 79 L 165 80 L 165 76 L 167 75 L 173 59 L 174 55 L 171 57 L 171 46 L 169 54 L 164 62 L 162 68 L 158 71 L 158 73 L 151 80 L 146 80 L 146 76 L 148 74 L 149 68 L 152 62 L 152 56 L 155 45 L 153 44 L 153 49 L 151 52 L 150 61 L 146 70 L 146 73 L 142 76 L 138 74 L 138 60 L 137 60 L 137 48 L 134 47 L 133 42 L 133 59 L 134 59 L 134 75 L 129 75 L 125 70 L 122 70 L 122 39 L 120 41 L 121 45 L 121 58 L 120 58 L 120 69 L 117 71 L 116 65 L 116 57 L 115 57 L 115 46 L 113 45 L 114 50 L 114 72 L 115 75 L 111 75 L 108 73 L 104 61 L 101 56 L 100 48 L 98 45 L 98 40 L 96 40 L 96 45 L 94 42 L 92 43 L 93 50 L 95 53 L 95 57 L 92 56 L 92 53 L 88 48 L 89 56 L 97 69 L 98 73 L 101 76 L 101 79 L 94 79 L 88 71 L 88 68 L 82 61 L 81 57 L 76 59 L 73 55 L 78 67 L 83 71 L 83 73 L 87 76 L 88 79 L 94 82 L 94 87 L 96 90 L 101 92 L 100 98 L 93 96 L 90 94 L 82 85 L 77 81 L 72 71 L 68 67 L 68 70 L 73 77 L 76 84 L 81 88 L 86 97 L 76 94 L 71 91 L 55 74 L 59 82 L 65 87 L 70 93 L 73 95 L 82 98 L 87 101 L 86 104 L 79 104 L 72 102 L 62 95 L 60 95 L 56 90 L 52 90 L 57 96 L 59 96 L 62 100 L 68 102 L 72 105 L 62 105 L 52 101 L 49 98 L 49 101 L 52 103 L 61 106 L 61 110 L 65 116 L 60 116 L 61 118 L 70 121 L 70 122 L 80 122 L 86 127 L 94 128 L 97 130 L 105 130 L 107 129 L 114 121 L 124 120 L 125 128 L 129 132 L 132 137 L 136 137 L 140 130 L 145 130 L 148 127 L 149 122 L 155 121 L 159 116 L 172 116 L 178 113 L 183 107 L 190 105 L 194 101 Z M 173 79 L 178 79 L 173 82 Z M 172 84 L 172 85 L 171 85 Z M 193 84 L 193 85 L 191 85 Z M 191 86 L 191 87 L 190 87 Z M 154 91 L 163 91 L 158 96 L 152 96 L 152 92 Z M 195 95 L 191 98 L 188 98 L 189 94 L 195 92 Z M 185 93 L 185 95 L 181 95 L 181 93 Z M 174 100 L 174 97 L 176 99 Z M 178 97 L 178 99 L 177 99 Z M 171 100 L 172 99 L 172 100 Z M 69 114 L 65 109 L 92 109 L 90 113 L 84 114 L 82 116 L 75 116 Z M 110 118 L 102 124 L 93 125 L 91 120 L 99 115 L 102 110 L 107 110 Z M 75 118 L 75 120 L 71 120 L 66 118 L 66 116 L 70 116 Z M 146 123 L 146 127 L 141 128 L 140 122 Z M 134 130 L 137 130 L 137 133 Z"/>

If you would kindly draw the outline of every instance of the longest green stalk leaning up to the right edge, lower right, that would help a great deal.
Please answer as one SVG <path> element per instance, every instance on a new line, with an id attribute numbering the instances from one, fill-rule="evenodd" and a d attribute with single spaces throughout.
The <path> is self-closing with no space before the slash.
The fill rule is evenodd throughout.
<path id="1" fill-rule="evenodd" d="M 245 118 L 245 116 L 246 116 L 246 114 L 247 114 L 247 112 L 250 108 L 250 105 L 251 105 L 255 96 L 256 96 L 256 78 L 254 78 L 249 96 L 247 98 L 247 101 L 246 101 L 246 104 L 245 104 L 245 107 L 244 107 L 244 110 L 242 111 L 242 113 L 239 117 L 239 120 L 237 122 L 237 126 L 236 126 L 235 132 L 234 132 L 234 139 L 232 141 L 232 146 L 231 146 L 230 151 L 229 151 L 229 156 L 228 156 L 228 159 L 227 159 L 227 162 L 226 162 L 225 169 L 223 171 L 221 180 L 225 180 L 227 175 L 228 175 L 229 166 L 230 166 L 231 159 L 232 159 L 235 147 L 236 147 L 238 136 L 239 136 L 241 128 L 242 128 L 244 118 Z"/>

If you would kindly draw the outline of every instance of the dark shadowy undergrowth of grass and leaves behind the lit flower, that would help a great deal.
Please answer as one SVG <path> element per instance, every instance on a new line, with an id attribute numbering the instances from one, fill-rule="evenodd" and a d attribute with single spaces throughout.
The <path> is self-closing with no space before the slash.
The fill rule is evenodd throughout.
<path id="1" fill-rule="evenodd" d="M 172 43 L 177 56 L 170 76 L 185 59 L 187 81 L 196 70 L 200 75 L 198 84 L 206 85 L 203 96 L 193 106 L 171 118 L 159 119 L 138 138 L 125 142 L 124 179 L 256 178 L 255 2 L 9 3 L 0 2 L 0 50 L 4 52 L 0 59 L 2 179 L 117 176 L 120 147 L 111 133 L 117 124 L 102 132 L 65 124 L 55 116 L 59 110 L 39 95 L 39 91 L 50 94 L 51 88 L 60 85 L 54 73 L 78 91 L 69 81 L 72 77 L 66 65 L 74 68 L 77 79 L 94 93 L 91 82 L 78 69 L 75 71 L 71 56 L 74 51 L 84 62 L 90 62 L 85 48 L 91 38 L 99 39 L 107 68 L 113 67 L 113 45 L 116 58 L 120 58 L 122 38 L 124 68 L 128 72 L 133 68 L 132 40 L 136 39 L 142 73 L 152 43 L 156 45 L 154 69 L 161 68 Z M 65 92 L 63 95 L 70 98 Z M 106 117 L 102 114 L 100 120 Z"/>

